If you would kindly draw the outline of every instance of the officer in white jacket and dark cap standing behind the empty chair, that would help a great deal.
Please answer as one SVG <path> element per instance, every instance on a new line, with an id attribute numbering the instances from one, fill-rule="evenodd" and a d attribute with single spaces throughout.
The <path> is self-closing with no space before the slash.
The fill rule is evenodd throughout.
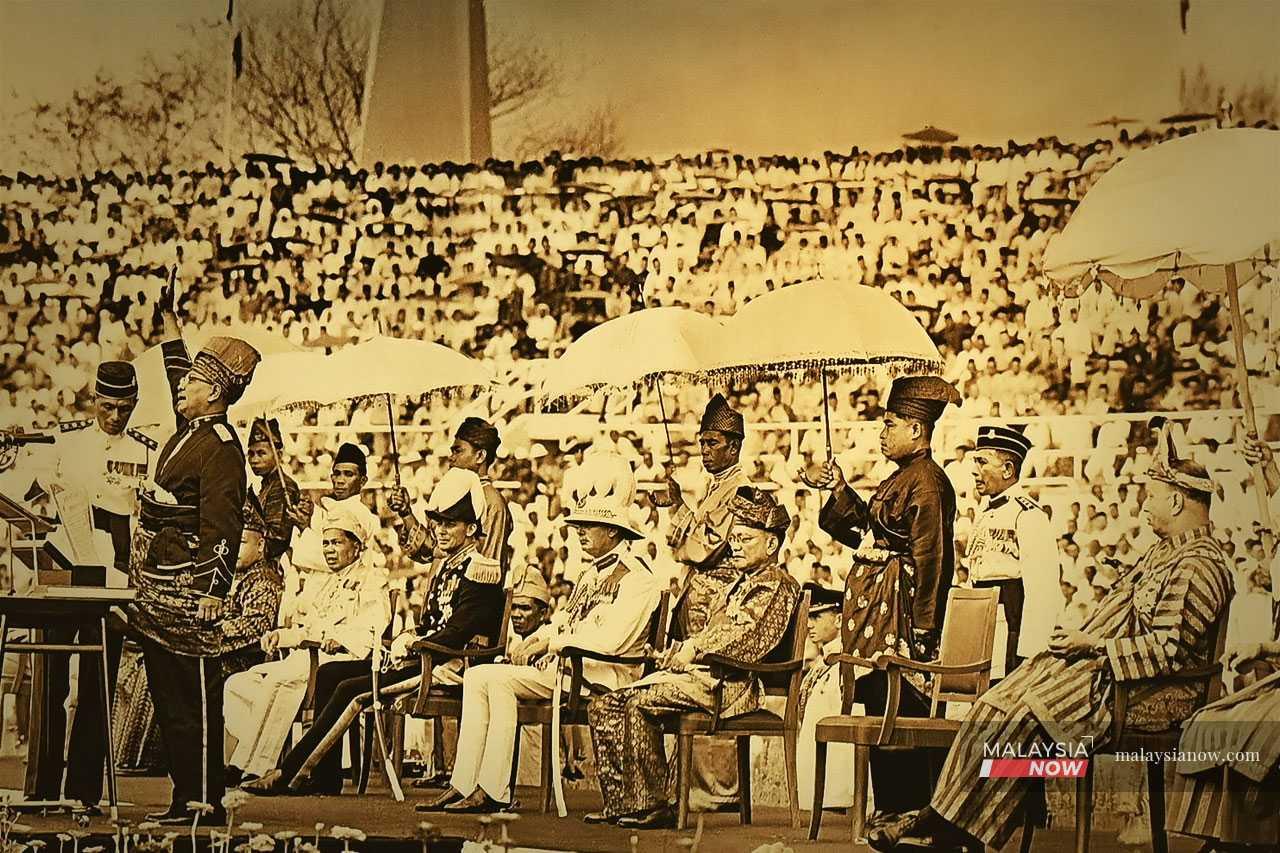
<path id="1" fill-rule="evenodd" d="M 1057 540 L 1048 515 L 1019 482 L 1030 441 L 1012 426 L 979 426 L 973 452 L 982 503 L 965 566 L 973 587 L 1000 590 L 1000 620 L 1007 637 L 995 651 L 993 674 L 1009 674 L 1023 658 L 1044 651 L 1062 612 Z M 997 637 L 1000 635 L 997 622 Z"/>

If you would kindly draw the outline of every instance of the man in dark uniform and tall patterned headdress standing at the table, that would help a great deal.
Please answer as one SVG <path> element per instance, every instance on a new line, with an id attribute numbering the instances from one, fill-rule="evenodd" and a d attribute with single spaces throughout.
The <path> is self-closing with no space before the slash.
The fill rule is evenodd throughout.
<path id="1" fill-rule="evenodd" d="M 173 800 L 148 818 L 192 820 L 188 802 L 221 809 L 221 599 L 243 528 L 244 451 L 227 409 L 244 393 L 259 353 L 238 338 L 210 338 L 178 391 L 178 432 L 142 493 L 131 569 L 147 683 L 164 736 Z"/>

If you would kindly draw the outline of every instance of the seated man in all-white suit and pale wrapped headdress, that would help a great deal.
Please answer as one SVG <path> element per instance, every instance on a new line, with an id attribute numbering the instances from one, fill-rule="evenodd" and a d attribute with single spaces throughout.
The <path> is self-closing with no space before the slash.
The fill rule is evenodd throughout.
<path id="1" fill-rule="evenodd" d="M 387 625 L 385 574 L 370 564 L 372 532 L 347 506 L 335 505 L 319 523 L 329 573 L 311 573 L 294 602 L 292 624 L 262 635 L 268 661 L 227 679 L 223 688 L 228 770 L 260 776 L 275 766 L 307 692 L 311 652 L 320 663 L 369 657 Z"/>

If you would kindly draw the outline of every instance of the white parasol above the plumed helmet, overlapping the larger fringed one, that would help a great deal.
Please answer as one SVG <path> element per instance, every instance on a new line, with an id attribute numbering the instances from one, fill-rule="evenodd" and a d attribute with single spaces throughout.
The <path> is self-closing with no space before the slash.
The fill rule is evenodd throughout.
<path id="1" fill-rule="evenodd" d="M 701 378 L 727 346 L 724 324 L 698 311 L 644 309 L 595 327 L 552 361 L 541 380 L 545 403 L 585 397 L 602 388 L 630 389 L 653 382 L 662 400 L 664 377 Z M 671 432 L 667 432 L 671 455 Z"/>

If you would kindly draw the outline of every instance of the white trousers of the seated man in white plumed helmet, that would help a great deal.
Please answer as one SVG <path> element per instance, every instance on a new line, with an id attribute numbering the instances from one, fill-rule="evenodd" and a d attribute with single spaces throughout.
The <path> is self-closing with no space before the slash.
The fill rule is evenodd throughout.
<path id="1" fill-rule="evenodd" d="M 476 786 L 499 803 L 511 802 L 517 699 L 549 699 L 556 672 L 532 666 L 472 666 L 462 679 L 462 722 L 451 784 L 463 795 Z"/>

